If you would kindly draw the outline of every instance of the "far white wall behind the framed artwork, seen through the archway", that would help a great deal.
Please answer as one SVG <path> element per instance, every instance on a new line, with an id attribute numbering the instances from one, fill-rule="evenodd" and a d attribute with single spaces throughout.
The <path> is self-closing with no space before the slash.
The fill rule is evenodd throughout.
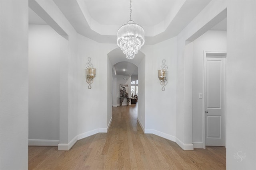
<path id="1" fill-rule="evenodd" d="M 120 84 L 127 84 L 129 87 L 127 89 L 129 98 L 131 97 L 131 77 L 130 76 L 123 76 L 123 75 L 116 75 L 116 100 L 117 106 L 120 106 Z M 129 103 L 129 105 L 131 102 Z M 122 102 L 122 106 L 127 106 L 127 99 L 124 98 Z"/>

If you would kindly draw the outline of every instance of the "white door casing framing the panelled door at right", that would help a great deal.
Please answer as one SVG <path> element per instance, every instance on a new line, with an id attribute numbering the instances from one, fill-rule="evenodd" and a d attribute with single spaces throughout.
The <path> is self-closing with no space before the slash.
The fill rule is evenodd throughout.
<path id="1" fill-rule="evenodd" d="M 226 51 L 204 51 L 204 59 L 203 59 L 203 146 L 204 149 L 206 149 L 206 139 L 205 139 L 205 131 L 206 131 L 206 122 L 205 122 L 205 104 L 206 104 L 206 88 L 205 88 L 205 81 L 206 81 L 206 56 L 207 55 L 219 55 L 219 56 L 225 56 L 227 57 L 227 52 Z M 225 63 L 226 65 L 226 63 Z M 226 75 L 226 72 L 225 72 Z M 226 76 L 225 76 L 226 79 Z M 225 81 L 226 82 L 226 81 Z M 226 84 L 225 84 L 225 89 L 226 89 Z M 225 90 L 225 100 L 226 100 L 226 90 Z M 226 102 L 225 102 L 225 147 L 226 147 Z"/>

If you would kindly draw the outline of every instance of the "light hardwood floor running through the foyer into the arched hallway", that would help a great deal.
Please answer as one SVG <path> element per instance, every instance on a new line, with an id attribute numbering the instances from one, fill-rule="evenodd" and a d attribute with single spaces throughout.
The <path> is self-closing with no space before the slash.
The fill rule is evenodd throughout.
<path id="1" fill-rule="evenodd" d="M 112 116 L 108 133 L 81 139 L 68 152 L 57 151 L 57 147 L 29 147 L 29 170 L 226 169 L 224 147 L 184 151 L 172 141 L 144 134 L 134 104 L 112 107 Z"/>

